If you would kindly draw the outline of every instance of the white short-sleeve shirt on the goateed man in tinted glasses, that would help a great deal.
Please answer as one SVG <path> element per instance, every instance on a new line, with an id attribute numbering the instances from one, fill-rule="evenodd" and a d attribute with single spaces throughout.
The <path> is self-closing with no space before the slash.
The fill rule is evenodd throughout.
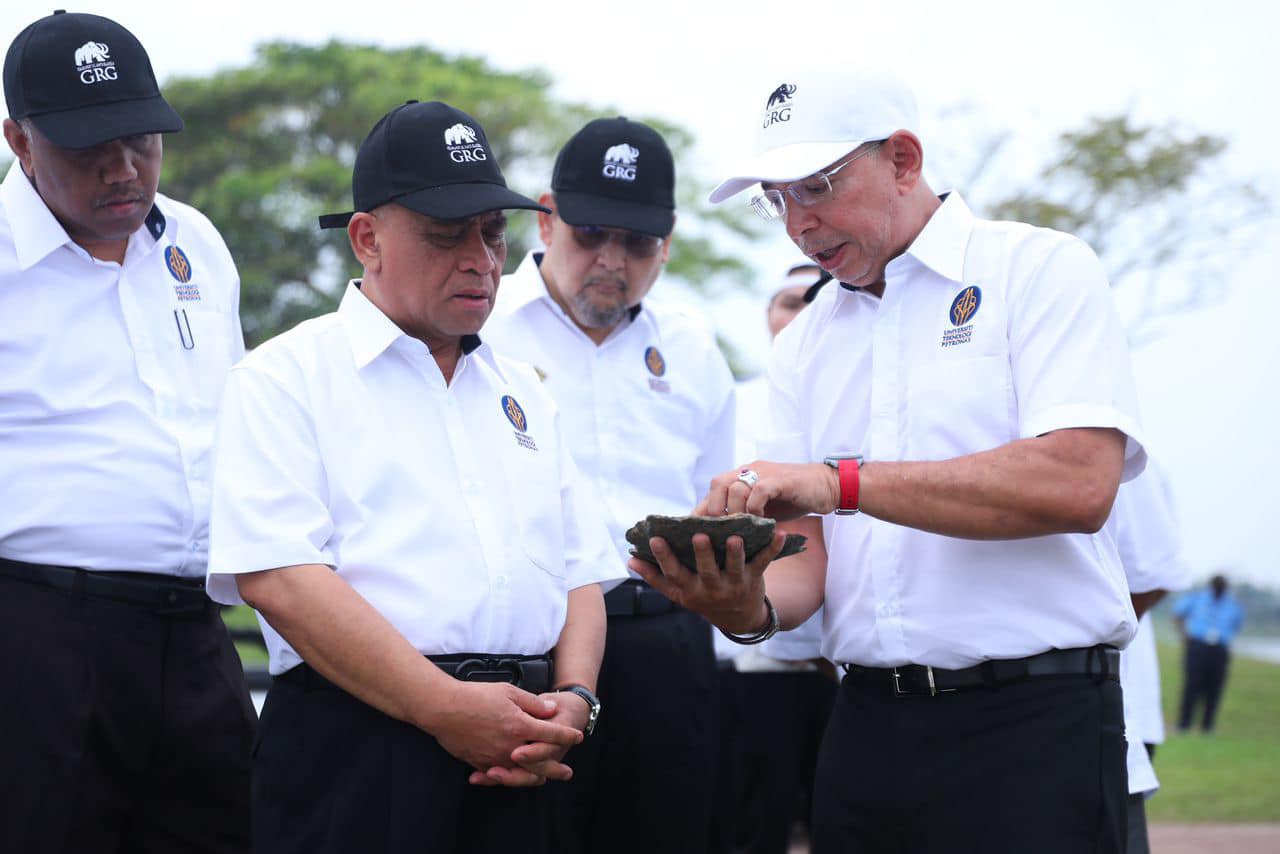
<path id="1" fill-rule="evenodd" d="M 733 378 L 705 323 L 648 301 L 596 346 L 547 292 L 539 259 L 503 277 L 485 341 L 544 376 L 625 565 L 628 528 L 690 512 L 732 467 Z"/>

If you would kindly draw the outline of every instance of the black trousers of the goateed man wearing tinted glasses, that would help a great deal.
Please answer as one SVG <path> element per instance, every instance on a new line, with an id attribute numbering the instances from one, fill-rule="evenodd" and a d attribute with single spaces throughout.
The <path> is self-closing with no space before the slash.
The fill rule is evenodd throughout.
<path id="1" fill-rule="evenodd" d="M 712 629 L 676 609 L 609 617 L 595 732 L 556 790 L 556 850 L 705 854 L 718 753 Z"/>

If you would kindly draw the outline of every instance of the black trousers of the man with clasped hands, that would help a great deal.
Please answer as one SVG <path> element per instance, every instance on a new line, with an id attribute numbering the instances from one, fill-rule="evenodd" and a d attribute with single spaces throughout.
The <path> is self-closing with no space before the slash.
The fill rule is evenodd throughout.
<path id="1" fill-rule="evenodd" d="M 264 854 L 545 854 L 550 786 L 467 782 L 430 735 L 332 685 L 276 679 L 253 748 Z"/>

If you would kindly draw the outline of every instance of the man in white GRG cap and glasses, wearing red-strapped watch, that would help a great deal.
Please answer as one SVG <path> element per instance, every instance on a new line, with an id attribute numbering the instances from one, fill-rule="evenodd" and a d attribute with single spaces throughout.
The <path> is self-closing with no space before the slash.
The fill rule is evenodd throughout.
<path id="1" fill-rule="evenodd" d="M 890 74 L 795 74 L 760 106 L 712 201 L 760 183 L 753 206 L 840 287 L 778 335 L 764 461 L 699 512 L 791 520 L 810 548 L 767 576 L 781 535 L 750 563 L 699 536 L 696 567 L 662 540 L 660 572 L 631 566 L 745 643 L 826 603 L 846 676 L 814 851 L 1120 851 L 1137 618 L 1103 525 L 1146 455 L 1102 268 L 936 196 Z"/>

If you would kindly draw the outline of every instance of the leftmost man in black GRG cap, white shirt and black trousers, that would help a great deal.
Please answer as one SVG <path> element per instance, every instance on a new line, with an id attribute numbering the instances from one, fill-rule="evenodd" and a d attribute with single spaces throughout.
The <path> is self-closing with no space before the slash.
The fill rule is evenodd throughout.
<path id="1" fill-rule="evenodd" d="M 182 119 L 129 31 L 42 18 L 4 90 L 0 850 L 244 851 L 255 716 L 204 592 L 236 266 L 156 192 Z"/>

